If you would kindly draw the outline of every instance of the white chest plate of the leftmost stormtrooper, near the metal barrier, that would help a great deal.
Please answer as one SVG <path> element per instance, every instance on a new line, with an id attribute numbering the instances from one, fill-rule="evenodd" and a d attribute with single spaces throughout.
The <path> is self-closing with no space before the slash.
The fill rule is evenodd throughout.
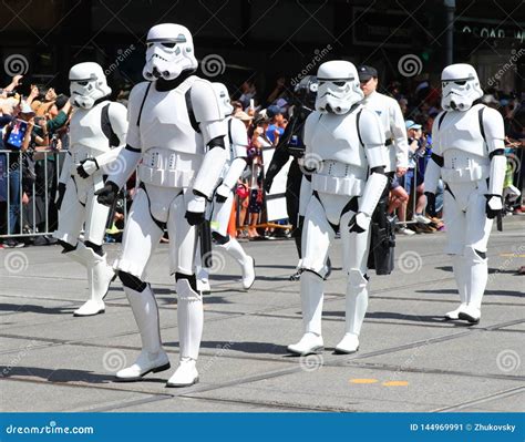
<path id="1" fill-rule="evenodd" d="M 101 127 L 102 110 L 109 103 L 103 101 L 92 109 L 75 109 L 70 124 L 70 152 L 74 164 L 111 150 Z"/>

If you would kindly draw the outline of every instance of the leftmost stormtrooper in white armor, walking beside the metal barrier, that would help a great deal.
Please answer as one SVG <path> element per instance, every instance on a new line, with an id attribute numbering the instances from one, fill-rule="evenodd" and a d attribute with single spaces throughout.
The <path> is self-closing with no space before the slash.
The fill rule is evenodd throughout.
<path id="1" fill-rule="evenodd" d="M 59 228 L 53 236 L 63 254 L 87 269 L 90 299 L 74 316 L 104 312 L 104 297 L 115 277 L 102 249 L 109 207 L 94 193 L 104 186 L 103 175 L 117 167 L 115 160 L 125 144 L 126 109 L 110 102 L 102 68 L 92 62 L 70 70 L 71 101 L 75 109 L 70 124 L 70 150 L 59 178 Z M 79 234 L 84 225 L 84 241 Z"/>

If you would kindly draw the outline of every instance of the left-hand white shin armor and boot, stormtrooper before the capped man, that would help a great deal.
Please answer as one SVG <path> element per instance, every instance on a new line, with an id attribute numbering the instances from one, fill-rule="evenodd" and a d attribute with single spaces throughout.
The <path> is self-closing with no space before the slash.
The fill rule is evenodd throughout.
<path id="1" fill-rule="evenodd" d="M 305 335 L 299 342 L 288 346 L 295 354 L 311 354 L 323 350 L 321 336 L 322 278 L 312 271 L 301 274 L 301 307 Z"/>

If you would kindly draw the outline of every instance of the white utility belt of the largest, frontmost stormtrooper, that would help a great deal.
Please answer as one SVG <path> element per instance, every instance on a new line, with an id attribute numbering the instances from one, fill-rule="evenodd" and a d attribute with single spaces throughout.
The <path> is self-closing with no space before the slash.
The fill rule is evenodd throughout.
<path id="1" fill-rule="evenodd" d="M 137 175 L 145 184 L 189 187 L 200 163 L 199 155 L 154 147 L 144 153 Z"/>

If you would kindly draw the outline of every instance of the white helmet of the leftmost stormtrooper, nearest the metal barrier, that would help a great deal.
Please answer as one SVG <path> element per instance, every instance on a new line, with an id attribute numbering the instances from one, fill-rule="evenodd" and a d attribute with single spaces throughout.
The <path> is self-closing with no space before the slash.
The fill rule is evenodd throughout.
<path id="1" fill-rule="evenodd" d="M 70 69 L 71 103 L 76 107 L 91 109 L 96 100 L 111 94 L 104 71 L 91 61 Z"/>

